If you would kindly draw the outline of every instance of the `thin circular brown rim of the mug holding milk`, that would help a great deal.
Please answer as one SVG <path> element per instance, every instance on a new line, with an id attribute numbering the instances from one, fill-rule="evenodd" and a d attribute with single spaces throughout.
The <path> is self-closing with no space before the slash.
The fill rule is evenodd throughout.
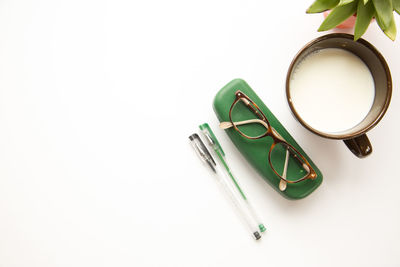
<path id="1" fill-rule="evenodd" d="M 348 39 L 348 40 L 350 40 L 352 42 L 361 43 L 362 45 L 364 45 L 365 47 L 367 47 L 370 51 L 372 51 L 374 53 L 374 55 L 378 58 L 378 60 L 382 64 L 383 68 L 385 69 L 385 75 L 386 75 L 386 78 L 387 78 L 387 81 L 388 81 L 388 84 L 387 84 L 387 95 L 388 95 L 388 97 L 386 97 L 385 103 L 382 106 L 378 116 L 371 123 L 369 123 L 367 127 L 364 127 L 363 129 L 355 131 L 355 132 L 344 133 L 344 134 L 340 134 L 340 133 L 339 134 L 332 134 L 332 133 L 318 131 L 317 129 L 311 127 L 299 115 L 299 113 L 297 112 L 296 108 L 293 105 L 293 101 L 292 101 L 292 98 L 291 98 L 291 95 L 290 95 L 290 86 L 289 86 L 289 84 L 290 84 L 291 73 L 293 71 L 293 68 L 294 68 L 295 64 L 298 62 L 300 56 L 304 53 L 305 50 L 307 50 L 311 46 L 315 45 L 316 43 L 319 43 L 319 42 L 321 42 L 323 40 L 331 39 L 331 38 L 343 38 L 343 39 Z M 316 135 L 319 135 L 321 137 L 329 138 L 329 139 L 346 140 L 346 139 L 352 139 L 352 138 L 355 138 L 355 137 L 358 137 L 358 136 L 361 136 L 361 135 L 365 134 L 366 132 L 371 130 L 373 127 L 375 127 L 378 124 L 378 122 L 383 118 L 383 116 L 385 115 L 385 113 L 386 113 L 386 111 L 387 111 L 387 109 L 389 107 L 391 98 L 392 98 L 392 77 L 391 77 L 391 74 L 390 74 L 389 66 L 387 65 L 387 62 L 386 62 L 385 58 L 378 51 L 378 49 L 376 49 L 371 43 L 367 42 L 366 40 L 360 38 L 357 41 L 354 41 L 354 35 L 352 35 L 352 34 L 331 33 L 331 34 L 326 34 L 326 35 L 320 36 L 320 37 L 315 38 L 314 40 L 308 42 L 306 45 L 304 45 L 297 52 L 297 54 L 293 58 L 292 62 L 290 63 L 288 72 L 286 74 L 286 99 L 288 101 L 290 110 L 292 111 L 294 117 L 300 122 L 301 125 L 303 125 L 306 129 L 308 129 L 312 133 L 314 133 Z M 351 130 L 351 128 L 349 130 Z"/>

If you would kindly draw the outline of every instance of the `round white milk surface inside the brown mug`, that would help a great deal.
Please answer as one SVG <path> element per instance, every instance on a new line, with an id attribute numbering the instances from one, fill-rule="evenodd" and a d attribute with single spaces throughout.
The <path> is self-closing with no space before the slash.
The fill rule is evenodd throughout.
<path id="1" fill-rule="evenodd" d="M 365 63 L 339 48 L 305 57 L 290 80 L 290 95 L 300 117 L 326 133 L 346 131 L 368 114 L 375 97 L 374 80 Z"/>

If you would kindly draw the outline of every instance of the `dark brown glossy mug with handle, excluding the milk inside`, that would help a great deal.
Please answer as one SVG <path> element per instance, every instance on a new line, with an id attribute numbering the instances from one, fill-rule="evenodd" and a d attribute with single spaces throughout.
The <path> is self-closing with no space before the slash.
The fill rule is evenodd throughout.
<path id="1" fill-rule="evenodd" d="M 392 78 L 389 67 L 378 50 L 363 39 L 354 41 L 353 38 L 354 36 L 350 34 L 333 33 L 321 36 L 306 44 L 290 64 L 286 76 L 286 97 L 293 115 L 305 128 L 325 138 L 343 140 L 354 155 L 363 158 L 372 152 L 371 143 L 365 133 L 382 119 L 389 107 L 392 96 Z M 290 79 L 297 64 L 310 53 L 326 48 L 340 48 L 358 56 L 369 68 L 375 85 L 375 99 L 364 120 L 351 129 L 338 133 L 321 132 L 308 125 L 302 119 L 301 114 L 296 111 L 290 95 Z"/>

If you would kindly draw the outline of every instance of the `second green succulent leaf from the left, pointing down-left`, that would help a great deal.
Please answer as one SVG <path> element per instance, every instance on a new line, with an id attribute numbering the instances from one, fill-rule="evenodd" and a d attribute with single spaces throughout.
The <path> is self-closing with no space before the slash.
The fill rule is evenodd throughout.
<path id="1" fill-rule="evenodd" d="M 335 28 L 337 25 L 345 21 L 348 17 L 353 15 L 357 10 L 357 2 L 351 2 L 345 6 L 335 7 L 331 13 L 322 22 L 318 31 L 327 31 Z"/>

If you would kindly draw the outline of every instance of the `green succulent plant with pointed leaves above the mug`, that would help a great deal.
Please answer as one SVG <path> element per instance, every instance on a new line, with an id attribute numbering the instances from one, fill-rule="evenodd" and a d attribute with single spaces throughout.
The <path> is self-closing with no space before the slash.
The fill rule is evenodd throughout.
<path id="1" fill-rule="evenodd" d="M 397 30 L 393 11 L 400 14 L 400 0 L 315 0 L 307 9 L 307 13 L 320 13 L 326 10 L 331 10 L 331 12 L 318 31 L 335 28 L 356 14 L 354 40 L 365 33 L 373 18 L 390 39 L 394 41 L 396 38 Z"/>

